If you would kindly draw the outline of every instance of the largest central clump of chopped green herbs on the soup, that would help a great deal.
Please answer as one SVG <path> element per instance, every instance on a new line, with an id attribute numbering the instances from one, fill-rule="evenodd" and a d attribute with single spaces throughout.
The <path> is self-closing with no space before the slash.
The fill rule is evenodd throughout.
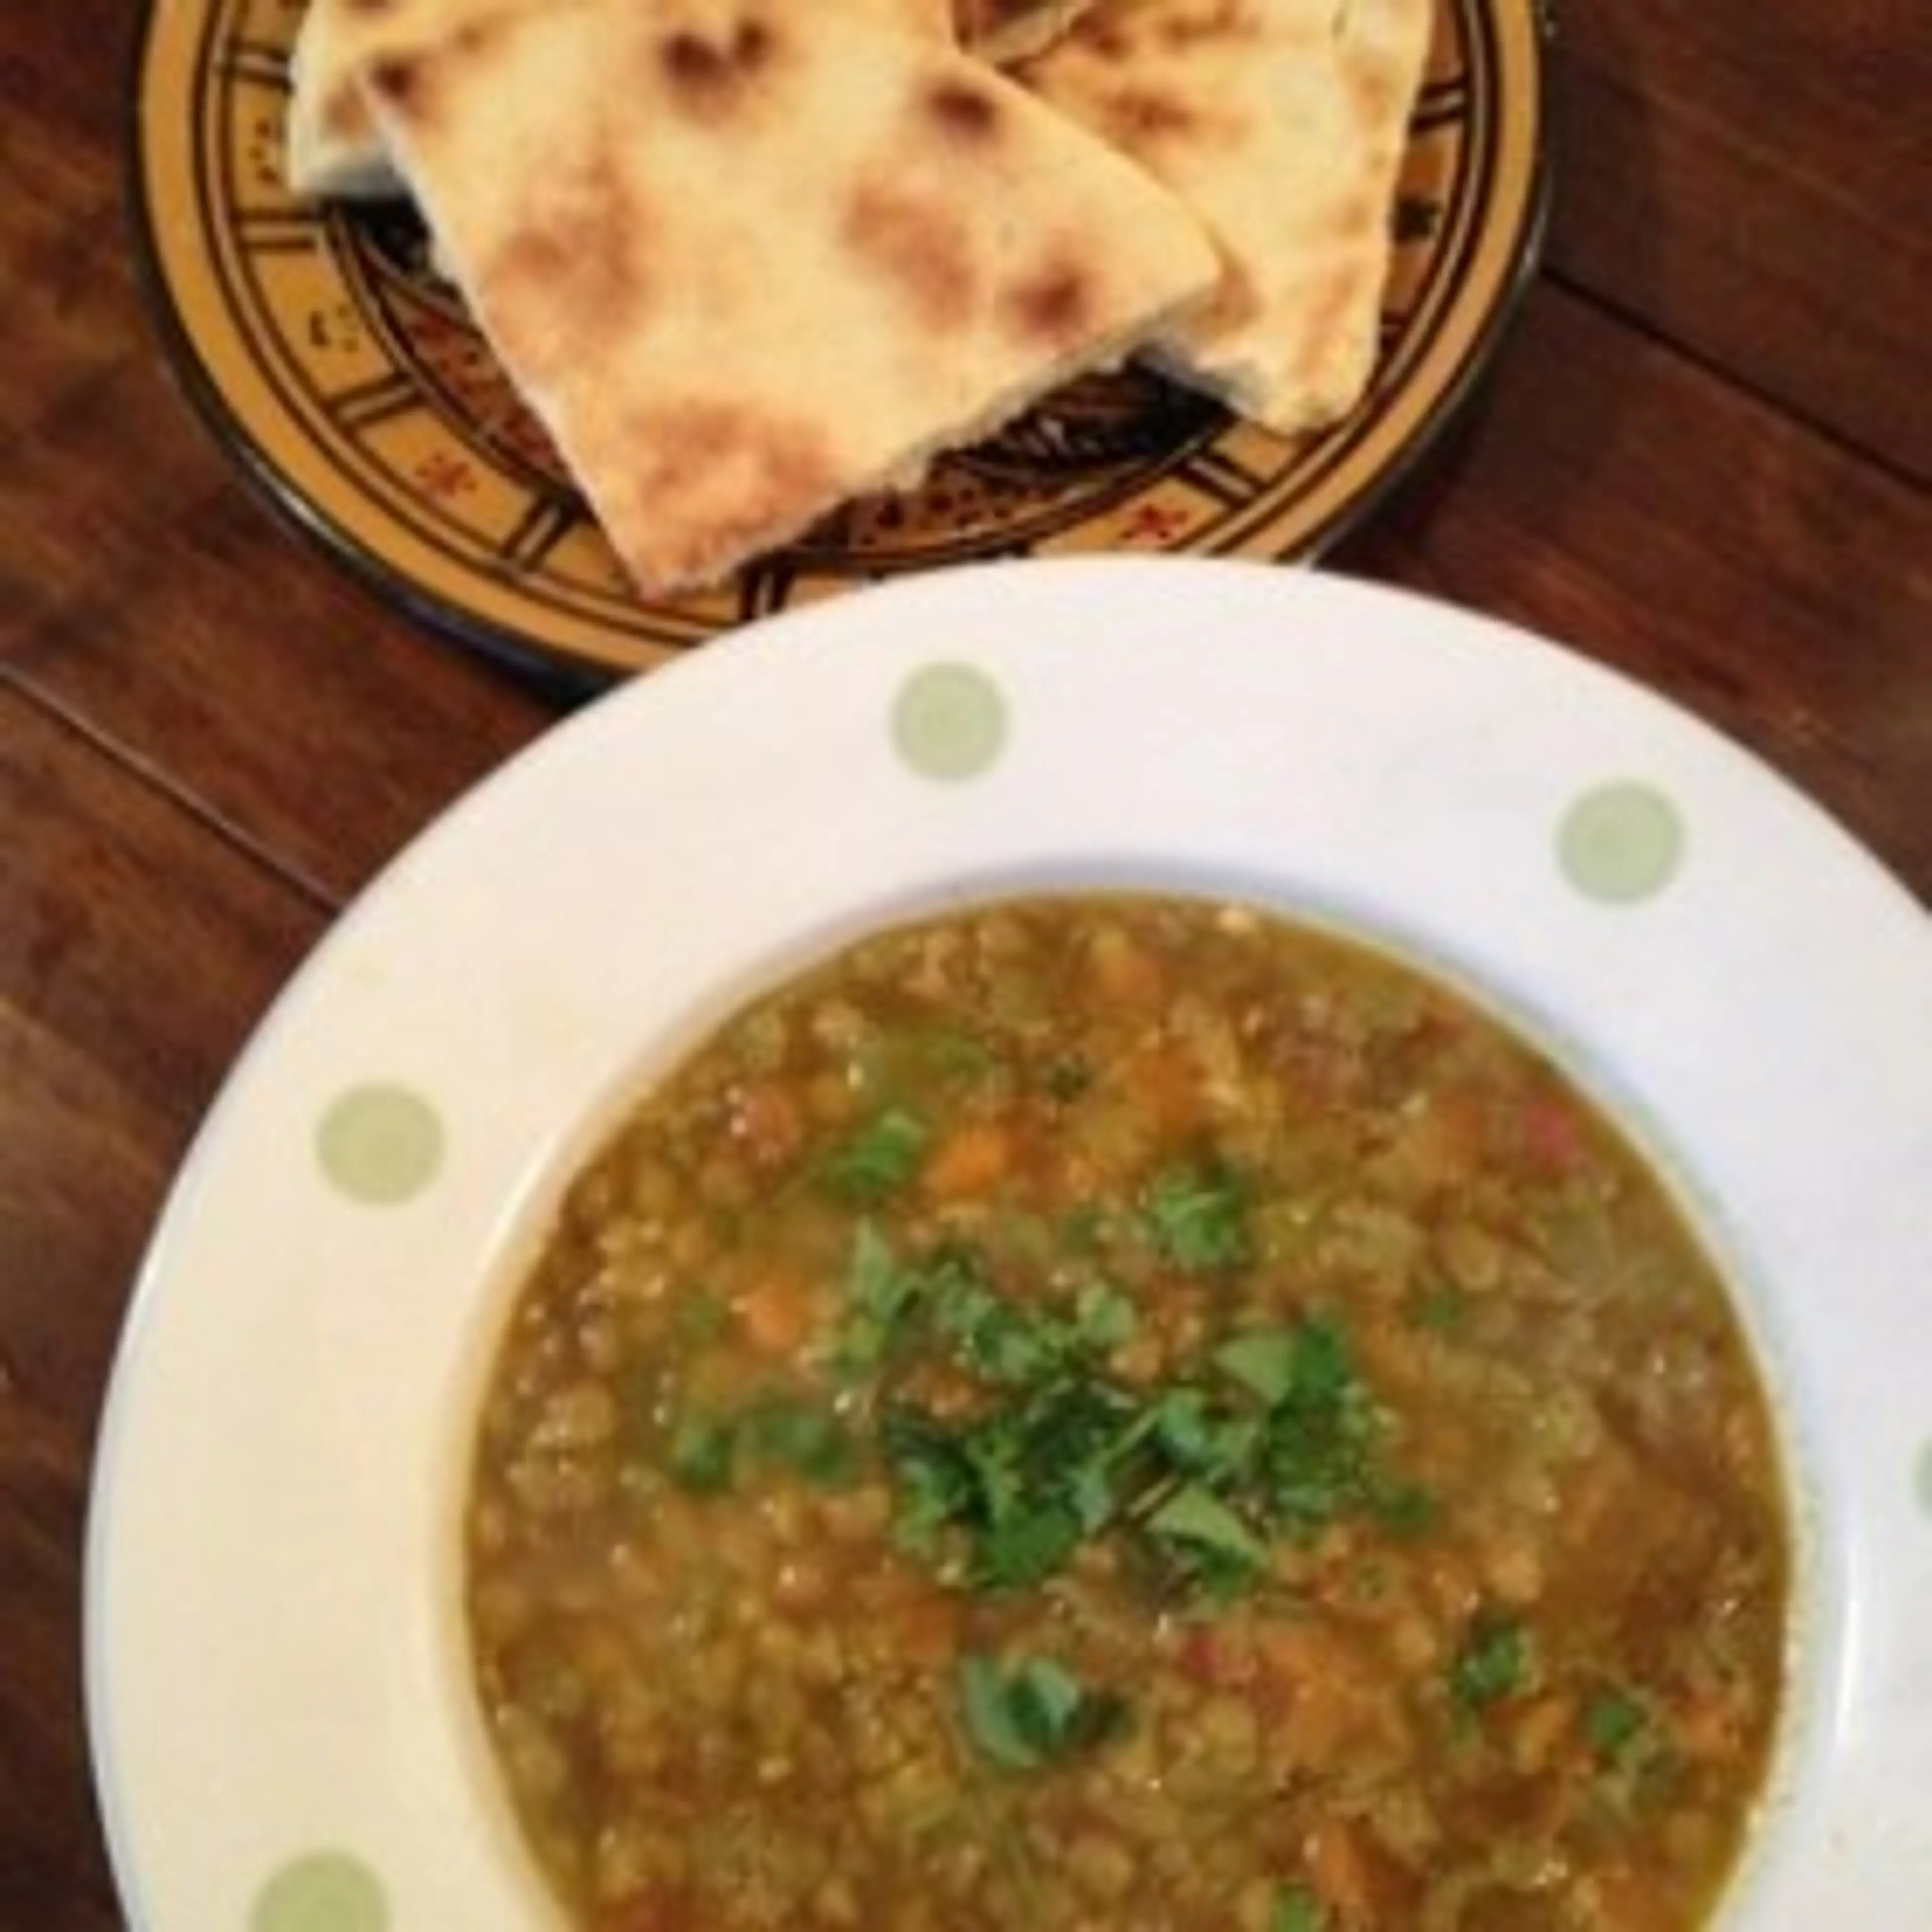
<path id="1" fill-rule="evenodd" d="M 900 1256 L 860 1223 L 831 1358 L 883 1381 L 900 1546 L 956 1582 L 1018 1590 L 1086 1540 L 1122 1534 L 1190 1588 L 1227 1596 L 1254 1584 L 1279 1538 L 1350 1515 L 1426 1524 L 1428 1495 L 1385 1468 L 1387 1424 L 1337 1321 L 1238 1331 L 1151 1387 L 1107 1372 L 1134 1323 L 1105 1281 L 1022 1298 L 974 1250 Z M 898 1364 L 933 1349 L 974 1399 L 939 1412 L 895 1385 Z"/>

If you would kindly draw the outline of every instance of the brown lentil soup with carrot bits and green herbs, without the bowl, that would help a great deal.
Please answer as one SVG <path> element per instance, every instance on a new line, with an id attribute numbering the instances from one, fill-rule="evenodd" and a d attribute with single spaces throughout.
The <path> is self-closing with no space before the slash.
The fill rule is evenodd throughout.
<path id="1" fill-rule="evenodd" d="M 1789 1569 L 1723 1285 L 1549 1061 L 1128 895 L 867 939 L 657 1086 L 468 1515 L 595 1932 L 1700 1926 Z"/>

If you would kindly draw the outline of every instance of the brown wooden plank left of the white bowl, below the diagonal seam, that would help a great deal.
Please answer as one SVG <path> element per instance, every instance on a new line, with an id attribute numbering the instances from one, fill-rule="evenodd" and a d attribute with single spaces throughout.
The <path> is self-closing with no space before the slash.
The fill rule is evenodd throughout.
<path id="1" fill-rule="evenodd" d="M 0 690 L 0 1924 L 108 1926 L 79 1710 L 108 1362 L 174 1163 L 323 910 Z"/>

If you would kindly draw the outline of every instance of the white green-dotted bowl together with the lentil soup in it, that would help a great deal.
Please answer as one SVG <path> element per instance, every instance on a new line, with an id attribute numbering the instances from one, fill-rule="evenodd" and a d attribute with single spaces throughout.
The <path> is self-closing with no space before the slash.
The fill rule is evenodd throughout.
<path id="1" fill-rule="evenodd" d="M 156 1233 L 129 1917 L 1905 1932 L 1928 1041 L 1814 808 L 1408 597 L 995 566 L 653 674 Z"/>

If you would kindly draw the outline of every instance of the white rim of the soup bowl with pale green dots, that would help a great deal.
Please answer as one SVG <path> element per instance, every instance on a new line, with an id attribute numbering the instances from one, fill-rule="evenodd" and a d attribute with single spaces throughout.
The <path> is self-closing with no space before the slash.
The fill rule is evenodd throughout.
<path id="1" fill-rule="evenodd" d="M 591 1134 L 806 958 L 1018 889 L 1233 893 L 1401 951 L 1646 1148 L 1795 1495 L 1791 1690 L 1725 1932 L 1932 1899 L 1932 922 L 1706 726 L 1314 572 L 937 572 L 578 713 L 350 912 L 243 1055 L 122 1345 L 89 1712 L 149 1932 L 547 1911 L 471 1706 L 460 1501 Z"/>

